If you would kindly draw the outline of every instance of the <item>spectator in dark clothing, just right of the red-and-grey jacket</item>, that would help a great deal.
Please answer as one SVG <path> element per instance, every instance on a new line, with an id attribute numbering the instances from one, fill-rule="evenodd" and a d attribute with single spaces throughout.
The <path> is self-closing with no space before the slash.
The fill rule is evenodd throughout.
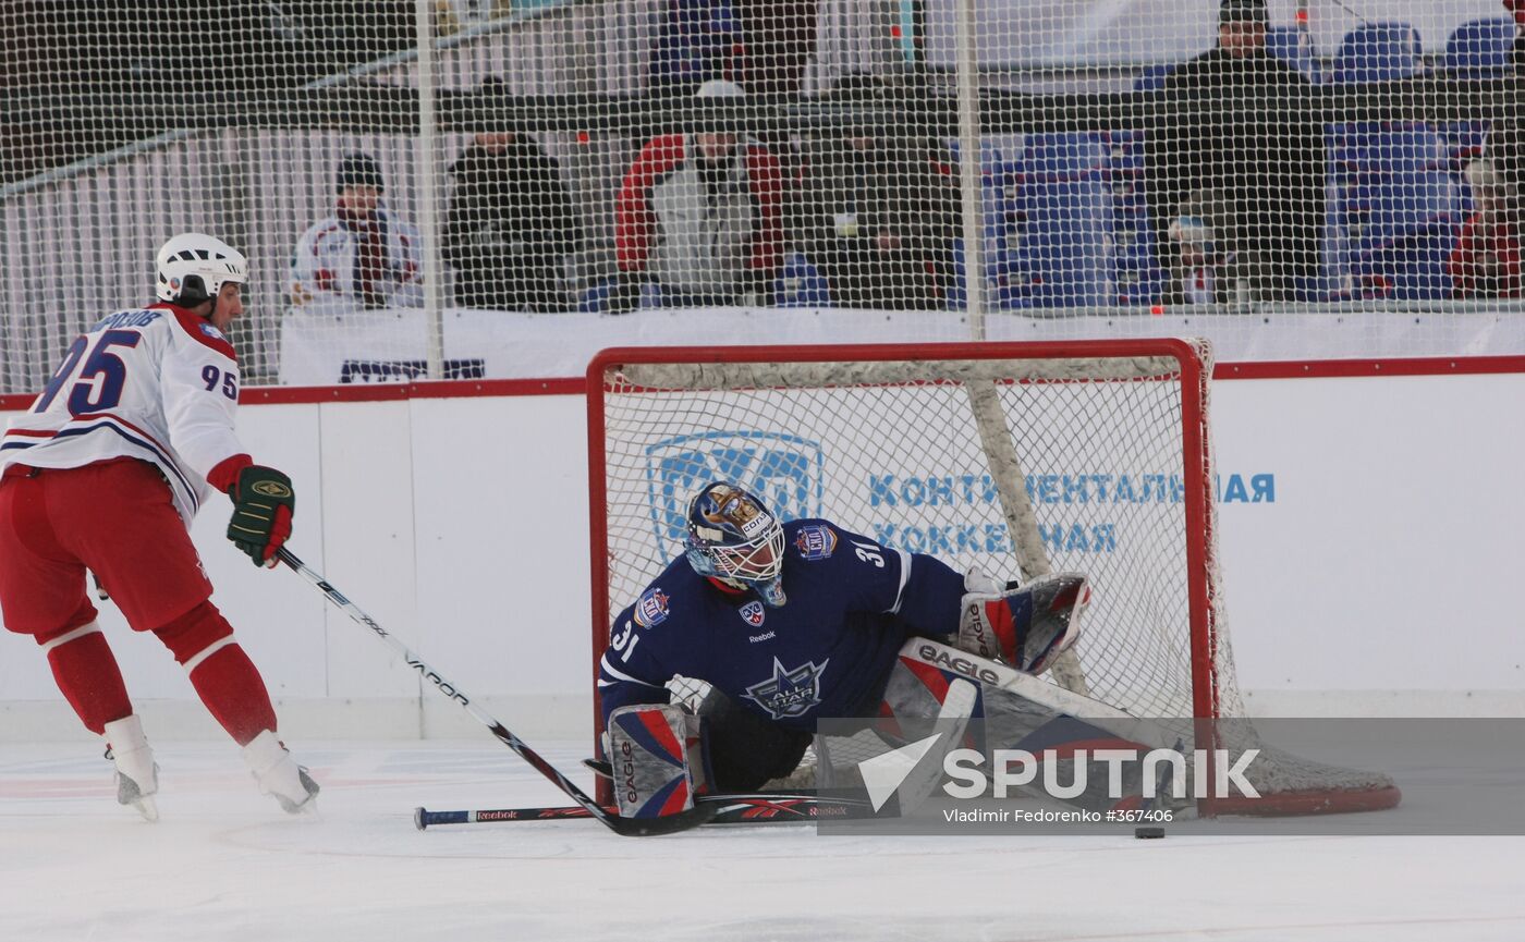
<path id="1" fill-rule="evenodd" d="M 874 107 L 886 81 L 851 75 L 833 98 Z M 825 274 L 831 302 L 846 308 L 942 306 L 959 235 L 953 155 L 930 136 L 866 117 L 807 143 L 799 233 Z"/>

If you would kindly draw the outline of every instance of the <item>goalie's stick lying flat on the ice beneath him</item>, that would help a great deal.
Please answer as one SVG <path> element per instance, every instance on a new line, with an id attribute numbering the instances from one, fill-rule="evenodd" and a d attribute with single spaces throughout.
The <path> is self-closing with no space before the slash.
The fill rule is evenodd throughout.
<path id="1" fill-rule="evenodd" d="M 863 799 L 827 797 L 808 793 L 755 791 L 744 794 L 702 794 L 700 805 L 714 805 L 709 825 L 782 825 L 819 820 L 895 817 L 894 805 L 874 811 Z M 590 817 L 576 805 L 560 808 L 493 808 L 480 811 L 413 809 L 413 826 L 419 831 L 435 825 L 486 825 L 497 822 L 551 822 Z"/>

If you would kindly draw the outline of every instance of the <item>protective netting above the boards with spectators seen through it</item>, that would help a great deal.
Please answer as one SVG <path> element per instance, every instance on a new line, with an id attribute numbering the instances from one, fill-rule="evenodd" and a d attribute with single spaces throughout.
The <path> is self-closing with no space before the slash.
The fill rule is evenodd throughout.
<path id="1" fill-rule="evenodd" d="M 1520 354 L 1513 6 L 20 0 L 0 393 L 186 229 L 252 259 L 253 381 L 700 335 Z"/>

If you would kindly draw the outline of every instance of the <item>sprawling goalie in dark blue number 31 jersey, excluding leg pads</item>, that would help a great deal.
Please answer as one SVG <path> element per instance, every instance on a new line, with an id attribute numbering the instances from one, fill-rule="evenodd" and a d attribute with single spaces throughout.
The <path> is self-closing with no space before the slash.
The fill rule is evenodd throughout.
<path id="1" fill-rule="evenodd" d="M 1034 593 L 828 520 L 781 523 L 730 482 L 700 488 L 686 529 L 685 555 L 615 619 L 598 692 L 616 747 L 683 765 L 686 738 L 702 750 L 711 783 L 726 791 L 791 771 L 819 718 L 872 715 L 909 637 L 1039 674 L 1075 642 L 1072 616 L 1089 599 L 1081 576 Z M 686 724 L 674 709 L 666 719 L 642 709 L 668 704 L 674 677 L 711 684 L 697 707 L 703 724 Z M 621 726 L 639 733 L 634 745 L 621 741 Z"/>

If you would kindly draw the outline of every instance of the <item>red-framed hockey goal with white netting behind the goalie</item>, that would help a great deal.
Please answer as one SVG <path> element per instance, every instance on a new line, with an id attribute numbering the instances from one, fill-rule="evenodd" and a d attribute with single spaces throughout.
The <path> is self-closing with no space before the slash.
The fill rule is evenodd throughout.
<path id="1" fill-rule="evenodd" d="M 1135 716 L 1243 716 L 1209 373 L 1208 344 L 1182 340 L 604 351 L 587 375 L 593 672 L 613 617 L 682 553 L 694 489 L 724 477 L 785 520 L 825 517 L 961 572 L 1087 573 L 1084 631 L 1054 683 Z M 1261 747 L 1246 723 L 1211 729 Z M 1203 814 L 1398 799 L 1385 776 L 1261 750 L 1263 799 Z"/>

